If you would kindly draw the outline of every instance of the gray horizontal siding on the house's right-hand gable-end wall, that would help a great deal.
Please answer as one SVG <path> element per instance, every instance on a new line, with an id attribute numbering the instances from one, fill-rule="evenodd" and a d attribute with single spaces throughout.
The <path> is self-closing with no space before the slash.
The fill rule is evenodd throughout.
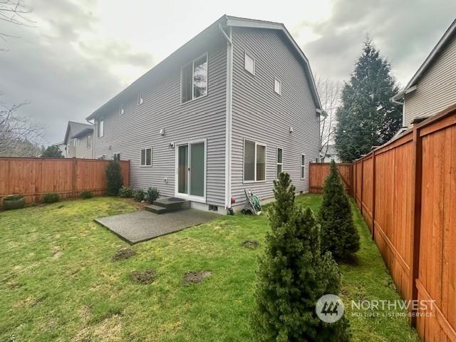
<path id="1" fill-rule="evenodd" d="M 319 118 L 304 67 L 282 33 L 257 28 L 234 28 L 232 196 L 244 203 L 244 188 L 261 199 L 273 196 L 276 148 L 284 150 L 283 170 L 298 192 L 309 191 L 309 161 L 318 157 Z M 255 58 L 255 75 L 244 70 L 244 51 Z M 274 93 L 274 77 L 281 95 Z M 289 133 L 289 127 L 294 133 Z M 243 182 L 244 139 L 266 144 L 266 182 Z M 301 153 L 306 177 L 301 179 Z"/>

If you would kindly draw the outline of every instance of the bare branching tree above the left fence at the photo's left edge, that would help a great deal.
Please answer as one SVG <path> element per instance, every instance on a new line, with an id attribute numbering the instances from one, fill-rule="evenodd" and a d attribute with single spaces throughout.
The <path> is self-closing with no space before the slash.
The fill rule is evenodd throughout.
<path id="1" fill-rule="evenodd" d="M 0 157 L 34 157 L 40 151 L 43 128 L 16 113 L 22 105 L 0 103 Z"/>

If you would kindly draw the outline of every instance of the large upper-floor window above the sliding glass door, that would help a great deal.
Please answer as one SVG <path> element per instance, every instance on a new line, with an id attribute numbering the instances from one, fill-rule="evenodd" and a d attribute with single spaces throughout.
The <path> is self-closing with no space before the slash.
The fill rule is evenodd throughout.
<path id="1" fill-rule="evenodd" d="M 182 103 L 207 95 L 207 53 L 182 67 Z"/>

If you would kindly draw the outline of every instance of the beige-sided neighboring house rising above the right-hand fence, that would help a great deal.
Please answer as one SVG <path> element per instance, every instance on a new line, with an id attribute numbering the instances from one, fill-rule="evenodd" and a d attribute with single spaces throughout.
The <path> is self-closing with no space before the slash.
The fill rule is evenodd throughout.
<path id="1" fill-rule="evenodd" d="M 428 118 L 456 103 L 456 20 L 392 100 L 403 104 L 405 128 L 417 118 Z"/>

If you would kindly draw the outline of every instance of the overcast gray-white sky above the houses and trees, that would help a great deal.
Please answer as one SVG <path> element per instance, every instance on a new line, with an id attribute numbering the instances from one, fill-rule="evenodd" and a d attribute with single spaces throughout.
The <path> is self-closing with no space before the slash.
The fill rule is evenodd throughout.
<path id="1" fill-rule="evenodd" d="M 157 4 L 157 2 L 159 2 Z M 315 76 L 347 80 L 369 35 L 405 86 L 455 19 L 455 0 L 28 0 L 33 28 L 0 21 L 0 102 L 63 140 L 85 118 L 223 14 L 284 23 Z"/>

